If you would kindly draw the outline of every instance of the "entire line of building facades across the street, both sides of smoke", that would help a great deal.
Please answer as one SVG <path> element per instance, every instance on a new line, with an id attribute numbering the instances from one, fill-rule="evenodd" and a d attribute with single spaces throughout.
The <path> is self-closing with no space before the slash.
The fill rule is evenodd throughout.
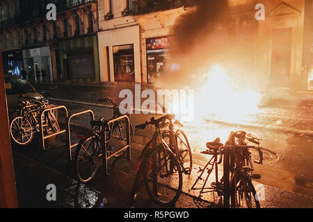
<path id="1" fill-rule="evenodd" d="M 254 30 L 247 39 L 254 49 L 244 66 L 260 85 L 313 89 L 312 1 L 228 1 L 230 22 L 239 32 L 243 24 Z M 45 19 L 47 3 L 56 3 L 54 22 Z M 255 19 L 257 3 L 265 6 L 264 21 Z M 3 0 L 3 58 L 22 58 L 31 68 L 49 64 L 54 81 L 153 84 L 166 67 L 175 69 L 167 62 L 171 31 L 191 8 L 184 0 Z"/>

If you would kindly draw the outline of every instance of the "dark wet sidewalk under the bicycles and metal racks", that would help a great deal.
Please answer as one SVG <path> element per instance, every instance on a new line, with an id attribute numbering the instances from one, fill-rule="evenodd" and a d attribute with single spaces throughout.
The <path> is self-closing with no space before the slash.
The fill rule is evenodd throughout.
<path id="1" fill-rule="evenodd" d="M 129 200 L 142 147 L 132 146 L 130 161 L 125 156 L 110 160 L 109 176 L 104 176 L 103 167 L 100 166 L 93 182 L 83 185 L 75 179 L 73 162 L 67 161 L 64 142 L 65 138 L 59 136 L 49 141 L 45 151 L 40 151 L 35 141 L 26 147 L 13 147 L 19 207 L 159 208 L 152 203 L 145 189 L 141 189 L 135 201 Z M 203 200 L 197 200 L 197 195 L 190 190 L 198 176 L 199 167 L 204 164 L 195 161 L 191 176 L 183 176 L 183 192 L 175 208 L 222 207 L 217 195 L 207 194 Z M 210 178 L 207 184 L 211 182 L 213 179 Z M 49 184 L 56 185 L 56 201 L 47 201 L 46 187 Z M 263 208 L 313 207 L 313 198 L 310 196 L 258 182 L 254 184 Z"/>

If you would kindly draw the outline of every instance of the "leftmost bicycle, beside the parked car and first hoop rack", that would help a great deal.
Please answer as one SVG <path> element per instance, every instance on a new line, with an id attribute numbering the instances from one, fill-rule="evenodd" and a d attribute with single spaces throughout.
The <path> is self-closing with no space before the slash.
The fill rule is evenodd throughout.
<path id="1" fill-rule="evenodd" d="M 49 104 L 47 99 L 33 99 L 28 96 L 23 96 L 24 101 L 19 103 L 19 115 L 10 123 L 10 135 L 14 142 L 19 145 L 26 146 L 33 139 L 35 132 L 40 132 L 39 118 L 43 110 L 54 108 L 56 105 Z M 55 133 L 60 131 L 58 124 L 58 112 L 51 110 L 45 113 L 42 117 L 42 125 L 45 133 L 53 130 Z"/>

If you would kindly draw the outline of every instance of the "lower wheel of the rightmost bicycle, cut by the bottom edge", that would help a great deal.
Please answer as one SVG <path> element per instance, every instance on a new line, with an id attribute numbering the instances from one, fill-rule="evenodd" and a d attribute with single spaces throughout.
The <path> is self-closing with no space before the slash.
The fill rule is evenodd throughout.
<path id="1" fill-rule="evenodd" d="M 232 207 L 260 208 L 259 198 L 250 178 L 246 173 L 240 172 L 235 182 L 232 181 Z"/>

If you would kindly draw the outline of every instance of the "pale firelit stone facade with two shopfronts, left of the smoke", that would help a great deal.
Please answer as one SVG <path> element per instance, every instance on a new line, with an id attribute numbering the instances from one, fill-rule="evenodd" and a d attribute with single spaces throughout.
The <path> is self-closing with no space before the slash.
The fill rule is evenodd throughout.
<path id="1" fill-rule="evenodd" d="M 185 10 L 179 0 L 99 1 L 101 81 L 154 83 L 166 66 L 170 29 Z"/>

